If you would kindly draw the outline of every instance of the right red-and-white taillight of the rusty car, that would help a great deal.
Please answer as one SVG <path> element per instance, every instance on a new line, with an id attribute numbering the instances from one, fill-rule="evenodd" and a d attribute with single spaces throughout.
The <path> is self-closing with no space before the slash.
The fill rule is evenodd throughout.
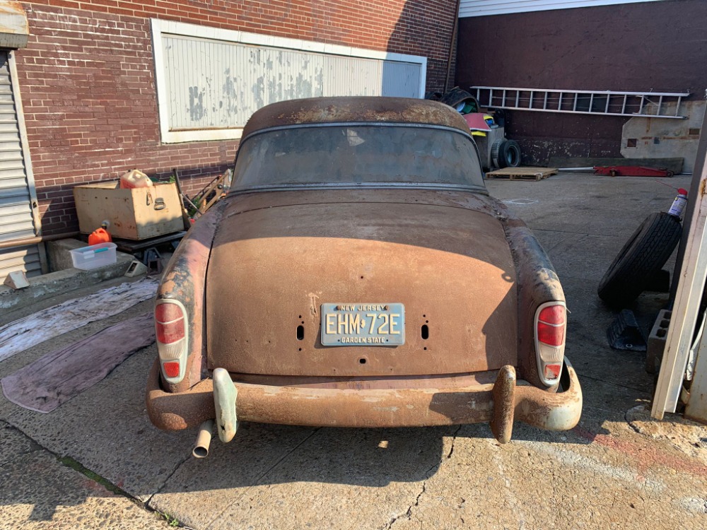
<path id="1" fill-rule="evenodd" d="M 565 355 L 567 315 L 564 302 L 547 302 L 535 312 L 535 353 L 540 379 L 548 387 L 556 384 Z"/>

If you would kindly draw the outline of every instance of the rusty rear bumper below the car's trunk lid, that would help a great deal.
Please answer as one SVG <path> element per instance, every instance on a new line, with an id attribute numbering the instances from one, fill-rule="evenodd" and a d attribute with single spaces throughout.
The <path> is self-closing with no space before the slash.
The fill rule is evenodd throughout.
<path id="1" fill-rule="evenodd" d="M 505 366 L 493 384 L 454 389 L 323 389 L 235 382 L 238 420 L 331 427 L 420 427 L 490 422 L 493 435 L 510 440 L 513 421 L 547 430 L 568 430 L 579 421 L 582 391 L 565 360 L 563 391 L 556 393 L 516 382 Z M 414 382 L 411 382 L 414 384 Z M 411 385 L 412 386 L 412 385 Z M 159 366 L 153 365 L 146 396 L 148 415 L 164 430 L 197 427 L 214 418 L 214 384 L 203 379 L 191 389 L 160 389 Z"/>

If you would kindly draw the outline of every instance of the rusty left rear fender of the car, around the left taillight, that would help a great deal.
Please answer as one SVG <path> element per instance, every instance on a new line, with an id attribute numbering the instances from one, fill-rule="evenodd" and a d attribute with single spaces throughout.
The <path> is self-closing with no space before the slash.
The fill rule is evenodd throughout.
<path id="1" fill-rule="evenodd" d="M 157 300 L 179 300 L 187 310 L 189 319 L 189 353 L 184 379 L 177 384 L 163 382 L 169 392 L 182 392 L 197 384 L 206 370 L 204 342 L 204 293 L 206 292 L 206 267 L 209 264 L 211 244 L 216 226 L 221 218 L 221 201 L 197 220 L 175 250 L 165 268 L 157 290 Z"/>

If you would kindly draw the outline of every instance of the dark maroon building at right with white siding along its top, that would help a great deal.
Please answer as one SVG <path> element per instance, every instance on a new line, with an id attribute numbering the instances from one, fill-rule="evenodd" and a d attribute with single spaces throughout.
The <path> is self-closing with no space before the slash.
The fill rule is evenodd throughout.
<path id="1" fill-rule="evenodd" d="M 706 24 L 704 0 L 461 0 L 456 83 L 496 88 L 496 105 L 507 109 L 517 95 L 529 106 L 529 89 L 544 89 L 533 94 L 533 111 L 506 112 L 523 163 L 679 157 L 691 172 L 705 113 Z M 522 90 L 508 90 L 504 105 L 499 88 Z M 617 94 L 611 101 L 600 94 L 607 90 Z M 629 96 L 621 112 L 626 92 L 645 98 Z M 686 95 L 676 107 L 659 93 Z M 488 90 L 482 95 L 484 105 Z M 581 112 L 568 112 L 573 95 Z M 684 119 L 632 115 L 658 112 Z"/>

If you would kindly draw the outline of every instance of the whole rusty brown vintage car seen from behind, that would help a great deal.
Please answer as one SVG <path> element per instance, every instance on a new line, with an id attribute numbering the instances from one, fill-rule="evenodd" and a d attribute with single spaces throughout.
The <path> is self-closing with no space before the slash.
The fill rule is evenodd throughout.
<path id="1" fill-rule="evenodd" d="M 582 408 L 556 273 L 439 102 L 255 112 L 233 187 L 177 248 L 155 318 L 148 413 L 166 430 L 206 422 L 197 456 L 214 418 L 223 442 L 238 420 L 488 421 L 508 442 L 514 419 L 566 430 Z"/>

